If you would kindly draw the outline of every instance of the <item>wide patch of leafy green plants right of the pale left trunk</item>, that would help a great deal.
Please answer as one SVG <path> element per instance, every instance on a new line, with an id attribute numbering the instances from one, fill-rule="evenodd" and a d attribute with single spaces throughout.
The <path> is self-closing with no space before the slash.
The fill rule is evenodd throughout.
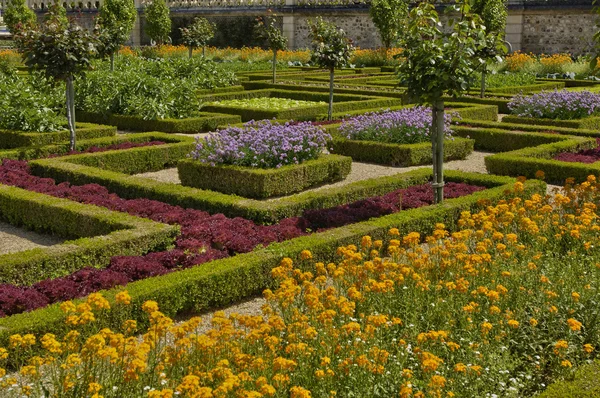
<path id="1" fill-rule="evenodd" d="M 235 81 L 233 73 L 199 58 L 120 58 L 114 72 L 108 71 L 107 63 L 97 63 L 96 70 L 78 83 L 77 108 L 146 120 L 180 119 L 198 112 L 198 90 Z"/>

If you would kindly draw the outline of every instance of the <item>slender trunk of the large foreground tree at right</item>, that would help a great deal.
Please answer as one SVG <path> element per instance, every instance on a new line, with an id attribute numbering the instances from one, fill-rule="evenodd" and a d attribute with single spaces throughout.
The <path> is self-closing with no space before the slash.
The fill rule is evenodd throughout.
<path id="1" fill-rule="evenodd" d="M 431 107 L 431 149 L 433 158 L 433 201 L 444 201 L 444 101 L 437 100 Z"/>

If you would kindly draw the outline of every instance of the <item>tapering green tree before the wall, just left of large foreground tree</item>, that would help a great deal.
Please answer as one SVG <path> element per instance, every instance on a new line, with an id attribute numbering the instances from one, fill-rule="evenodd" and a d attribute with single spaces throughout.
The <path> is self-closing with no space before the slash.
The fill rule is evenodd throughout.
<path id="1" fill-rule="evenodd" d="M 387 53 L 398 40 L 401 27 L 408 15 L 409 0 L 372 0 L 369 13 L 379 31 L 381 43 Z"/>

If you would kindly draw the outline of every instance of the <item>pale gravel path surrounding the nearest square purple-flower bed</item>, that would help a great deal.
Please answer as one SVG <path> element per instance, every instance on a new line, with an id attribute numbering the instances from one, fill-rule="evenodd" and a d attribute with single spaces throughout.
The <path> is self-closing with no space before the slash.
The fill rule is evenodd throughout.
<path id="1" fill-rule="evenodd" d="M 453 160 L 444 163 L 446 170 L 459 170 L 468 171 L 474 173 L 485 173 L 484 158 L 490 155 L 488 152 L 473 152 L 465 160 Z M 370 163 L 352 162 L 352 170 L 344 181 L 336 182 L 335 184 L 323 185 L 318 188 L 314 188 L 309 191 L 321 191 L 330 188 L 337 188 L 344 185 L 348 185 L 353 182 L 366 180 L 369 178 L 385 177 L 398 173 L 405 173 L 407 171 L 416 170 L 420 168 L 430 168 L 431 165 L 427 166 L 414 166 L 414 167 L 391 167 L 381 166 Z M 136 174 L 136 177 L 149 178 L 159 182 L 165 182 L 170 184 L 181 184 L 179 176 L 177 175 L 177 168 L 170 168 L 160 171 L 154 171 L 150 173 Z M 277 199 L 271 199 L 277 200 Z"/>

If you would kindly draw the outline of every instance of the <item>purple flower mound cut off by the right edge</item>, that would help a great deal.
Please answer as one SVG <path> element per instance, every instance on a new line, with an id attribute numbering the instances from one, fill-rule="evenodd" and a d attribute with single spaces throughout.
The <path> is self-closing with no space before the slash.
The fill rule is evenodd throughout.
<path id="1" fill-rule="evenodd" d="M 600 94 L 589 91 L 542 91 L 517 95 L 508 103 L 517 116 L 571 120 L 600 114 Z"/>

